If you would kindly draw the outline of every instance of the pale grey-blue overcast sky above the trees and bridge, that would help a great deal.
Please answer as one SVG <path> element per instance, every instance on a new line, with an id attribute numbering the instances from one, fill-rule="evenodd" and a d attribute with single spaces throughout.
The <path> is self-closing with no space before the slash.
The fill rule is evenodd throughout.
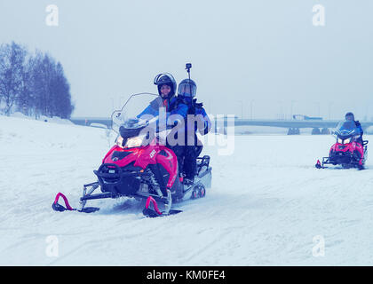
<path id="1" fill-rule="evenodd" d="M 58 27 L 45 24 L 49 4 Z M 73 116 L 109 116 L 131 93 L 156 92 L 158 73 L 179 83 L 192 62 L 210 113 L 363 120 L 373 117 L 372 12 L 369 0 L 0 0 L 0 43 L 59 60 Z"/>

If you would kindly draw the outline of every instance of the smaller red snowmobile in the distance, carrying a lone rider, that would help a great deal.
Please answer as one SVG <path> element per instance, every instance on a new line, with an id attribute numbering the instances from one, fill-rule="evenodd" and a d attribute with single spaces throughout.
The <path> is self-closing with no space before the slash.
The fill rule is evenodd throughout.
<path id="1" fill-rule="evenodd" d="M 322 162 L 317 160 L 317 169 L 326 168 L 325 164 L 342 165 L 344 169 L 364 169 L 368 156 L 368 140 L 361 139 L 361 133 L 353 121 L 342 121 L 337 124 L 333 133 L 337 142 L 331 146 L 329 157 L 323 157 Z"/>

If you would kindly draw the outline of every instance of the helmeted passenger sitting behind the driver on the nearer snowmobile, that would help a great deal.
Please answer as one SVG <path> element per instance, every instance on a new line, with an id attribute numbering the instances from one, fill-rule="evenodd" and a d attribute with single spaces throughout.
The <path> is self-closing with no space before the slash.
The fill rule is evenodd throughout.
<path id="1" fill-rule="evenodd" d="M 180 104 L 188 106 L 188 119 L 185 126 L 186 136 L 185 145 L 179 146 L 179 155 L 184 157 L 181 169 L 185 173 L 184 184 L 191 185 L 194 183 L 196 172 L 196 160 L 202 152 L 202 142 L 197 138 L 196 131 L 202 135 L 210 131 L 210 118 L 202 107 L 202 103 L 197 103 L 194 99 L 197 85 L 191 79 L 184 79 L 179 83 L 178 100 Z M 193 118 L 193 120 L 190 120 Z M 195 125 L 196 124 L 196 125 Z M 180 159 L 181 160 L 181 159 Z"/>

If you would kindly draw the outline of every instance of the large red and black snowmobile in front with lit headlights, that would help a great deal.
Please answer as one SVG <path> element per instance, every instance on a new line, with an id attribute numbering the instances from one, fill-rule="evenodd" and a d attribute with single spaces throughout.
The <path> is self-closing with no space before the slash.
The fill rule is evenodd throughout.
<path id="1" fill-rule="evenodd" d="M 179 175 L 176 155 L 170 148 L 159 143 L 170 133 L 170 129 L 158 131 L 155 127 L 154 138 L 150 138 L 150 143 L 144 144 L 149 135 L 144 135 L 142 130 L 155 122 L 157 117 L 147 121 L 137 118 L 136 114 L 144 106 L 148 106 L 149 102 L 155 106 L 162 104 L 162 99 L 155 94 L 135 94 L 127 100 L 121 111 L 112 114 L 112 129 L 118 137 L 99 169 L 93 171 L 98 181 L 83 185 L 81 208 L 71 208 L 66 196 L 58 193 L 52 209 L 91 213 L 99 208 L 85 207 L 89 200 L 127 196 L 146 199 L 143 214 L 147 217 L 159 217 L 181 212 L 171 209 L 173 202 L 205 196 L 206 188 L 211 185 L 210 156 L 197 158 L 194 184 L 184 185 Z M 100 188 L 101 193 L 93 194 L 97 188 Z M 60 197 L 64 199 L 66 208 L 58 203 Z"/>

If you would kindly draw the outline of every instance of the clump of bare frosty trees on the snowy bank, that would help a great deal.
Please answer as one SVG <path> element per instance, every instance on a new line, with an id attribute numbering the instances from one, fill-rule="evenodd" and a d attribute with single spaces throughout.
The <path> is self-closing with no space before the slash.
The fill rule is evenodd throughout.
<path id="1" fill-rule="evenodd" d="M 20 44 L 0 45 L 0 104 L 10 115 L 16 109 L 26 115 L 69 118 L 74 110 L 70 85 L 60 62 L 48 53 L 31 55 Z"/>

